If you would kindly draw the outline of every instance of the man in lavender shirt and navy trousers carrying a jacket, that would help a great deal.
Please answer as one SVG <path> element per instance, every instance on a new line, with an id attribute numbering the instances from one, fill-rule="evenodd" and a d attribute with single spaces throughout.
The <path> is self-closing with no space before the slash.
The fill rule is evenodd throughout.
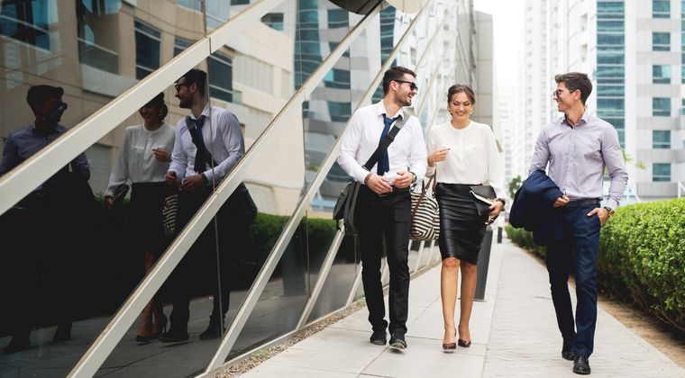
<path id="1" fill-rule="evenodd" d="M 592 92 L 588 76 L 570 72 L 554 81 L 553 99 L 564 115 L 540 132 L 528 173 L 544 170 L 549 162 L 548 175 L 564 193 L 553 204 L 562 219 L 563 238 L 548 241 L 547 271 L 562 331 L 562 357 L 573 360 L 573 373 L 589 374 L 597 323 L 599 229 L 618 206 L 628 174 L 616 129 L 585 108 Z M 600 207 L 605 167 L 611 184 L 606 205 Z M 568 287 L 571 264 L 578 298 L 575 327 Z"/>

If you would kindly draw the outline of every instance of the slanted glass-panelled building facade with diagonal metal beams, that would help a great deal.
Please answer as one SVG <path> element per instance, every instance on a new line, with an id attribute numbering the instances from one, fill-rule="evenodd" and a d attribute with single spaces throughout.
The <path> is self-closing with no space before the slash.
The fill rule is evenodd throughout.
<path id="1" fill-rule="evenodd" d="M 418 74 L 425 131 L 447 119 L 455 82 L 492 94 L 492 33 L 470 0 L 413 14 L 338 3 L 0 2 L 0 375 L 209 376 L 363 294 L 357 248 L 332 220 L 347 121 L 395 64 Z M 244 154 L 210 162 L 205 197 L 165 234 L 164 151 L 182 143 L 194 67 L 207 73 L 196 127 L 222 136 L 228 110 Z M 35 85 L 63 93 L 30 106 Z M 219 156 L 222 140 L 205 140 Z M 121 182 L 130 193 L 107 202 Z M 412 272 L 436 251 L 413 245 Z"/>

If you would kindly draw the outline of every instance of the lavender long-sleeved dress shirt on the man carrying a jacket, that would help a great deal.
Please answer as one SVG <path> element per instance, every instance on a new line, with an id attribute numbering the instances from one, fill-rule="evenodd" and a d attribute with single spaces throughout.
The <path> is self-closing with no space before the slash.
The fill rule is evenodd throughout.
<path id="1" fill-rule="evenodd" d="M 588 112 L 575 126 L 562 116 L 540 132 L 528 175 L 544 170 L 548 162 L 548 175 L 571 201 L 601 199 L 605 167 L 611 177 L 607 207 L 616 209 L 626 190 L 628 174 L 618 133 L 610 123 Z"/>

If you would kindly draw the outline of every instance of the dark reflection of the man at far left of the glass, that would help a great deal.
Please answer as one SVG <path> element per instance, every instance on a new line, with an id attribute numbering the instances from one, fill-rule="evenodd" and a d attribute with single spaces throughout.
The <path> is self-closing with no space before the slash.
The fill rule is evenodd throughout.
<path id="1" fill-rule="evenodd" d="M 14 131 L 5 142 L 0 175 L 19 166 L 24 160 L 50 144 L 67 129 L 59 124 L 67 104 L 62 103 L 64 90 L 59 86 L 34 85 L 26 101 L 35 114 L 32 125 Z M 71 166 L 71 171 L 69 171 Z M 2 215 L 0 232 L 7 243 L 3 254 L 2 287 L 7 291 L 13 338 L 5 354 L 30 347 L 31 329 L 40 324 L 58 323 L 53 340 L 71 338 L 73 310 L 74 257 L 83 247 L 84 235 L 76 235 L 79 219 L 92 205 L 93 194 L 87 180 L 90 177 L 86 154 L 78 154 L 55 175 L 26 195 L 22 201 Z M 91 208 L 92 209 L 92 208 Z M 84 231 L 79 229 L 78 233 Z M 69 238 L 68 235 L 73 235 Z M 41 297 L 53 302 L 38 302 Z"/>

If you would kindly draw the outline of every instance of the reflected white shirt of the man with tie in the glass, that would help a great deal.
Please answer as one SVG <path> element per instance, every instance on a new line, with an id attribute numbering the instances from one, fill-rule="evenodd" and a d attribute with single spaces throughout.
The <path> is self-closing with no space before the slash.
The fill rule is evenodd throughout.
<path id="1" fill-rule="evenodd" d="M 195 171 L 197 148 L 190 136 L 190 131 L 187 130 L 186 118 L 183 117 L 176 125 L 176 144 L 169 168 L 176 172 L 176 178 L 179 181 L 186 176 L 204 173 L 209 183 L 212 183 L 214 176 L 218 183 L 245 155 L 245 141 L 242 139 L 241 126 L 232 112 L 218 106 L 209 106 L 207 103 L 202 115 L 205 116 L 202 137 L 205 140 L 205 147 L 212 153 L 217 166 L 214 167 L 214 171 L 211 167 L 208 167 L 205 172 Z M 190 118 L 196 120 L 192 113 Z"/>

